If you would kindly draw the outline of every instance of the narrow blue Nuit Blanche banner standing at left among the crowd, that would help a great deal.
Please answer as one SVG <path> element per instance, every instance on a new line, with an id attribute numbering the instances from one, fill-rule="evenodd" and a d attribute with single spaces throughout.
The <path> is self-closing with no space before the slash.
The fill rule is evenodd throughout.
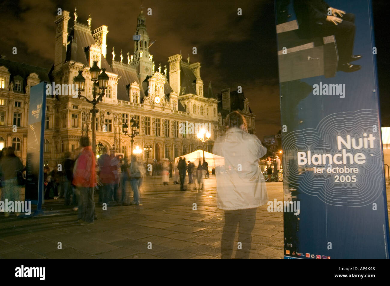
<path id="1" fill-rule="evenodd" d="M 26 201 L 37 205 L 43 203 L 43 140 L 46 110 L 46 83 L 41 82 L 30 91 L 27 132 Z"/>

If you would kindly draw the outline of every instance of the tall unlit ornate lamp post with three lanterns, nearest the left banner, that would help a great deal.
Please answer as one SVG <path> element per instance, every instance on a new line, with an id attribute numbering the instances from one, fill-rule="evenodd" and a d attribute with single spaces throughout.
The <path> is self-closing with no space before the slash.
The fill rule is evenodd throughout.
<path id="1" fill-rule="evenodd" d="M 100 73 L 100 71 L 102 71 Z M 85 78 L 82 75 L 82 71 L 78 72 L 78 76 L 75 76 L 73 79 L 74 85 L 76 85 L 77 91 L 78 91 L 78 98 L 83 98 L 85 101 L 92 104 L 92 109 L 90 109 L 90 112 L 92 113 L 92 151 L 96 154 L 96 127 L 95 127 L 95 121 L 96 121 L 96 113 L 99 112 L 99 109 L 96 109 L 96 104 L 103 101 L 103 96 L 105 94 L 105 90 L 108 85 L 108 75 L 106 74 L 106 69 L 100 69 L 97 66 L 97 62 L 94 61 L 94 64 L 89 69 L 89 73 L 91 76 L 91 81 L 93 81 L 93 89 L 92 89 L 92 100 L 89 100 L 84 95 L 81 95 L 81 92 L 84 90 L 85 86 Z M 97 90 L 100 90 L 100 92 L 97 92 Z"/>

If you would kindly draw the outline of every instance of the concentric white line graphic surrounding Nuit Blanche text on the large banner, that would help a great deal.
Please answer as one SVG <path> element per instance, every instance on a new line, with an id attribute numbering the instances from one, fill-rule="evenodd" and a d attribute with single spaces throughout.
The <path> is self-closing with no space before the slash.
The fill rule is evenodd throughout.
<path id="1" fill-rule="evenodd" d="M 285 185 L 328 205 L 363 207 L 382 193 L 378 113 L 372 109 L 333 113 L 315 129 L 285 135 Z"/>

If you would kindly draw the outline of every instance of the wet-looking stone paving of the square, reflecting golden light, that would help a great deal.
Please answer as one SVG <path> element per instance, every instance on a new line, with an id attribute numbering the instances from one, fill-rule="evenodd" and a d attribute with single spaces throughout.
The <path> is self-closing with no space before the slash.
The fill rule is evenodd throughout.
<path id="1" fill-rule="evenodd" d="M 224 211 L 216 207 L 215 178 L 205 180 L 202 192 L 181 192 L 173 184 L 160 186 L 161 177 L 147 177 L 142 206 L 117 205 L 107 211 L 99 206 L 98 219 L 87 226 L 74 223 L 77 212 L 62 205 L 63 199 L 45 202 L 46 209 L 57 215 L 20 219 L 0 214 L 0 258 L 220 258 Z M 269 200 L 283 199 L 282 183 L 266 186 Z M 259 207 L 250 258 L 283 258 L 283 239 L 283 214 Z M 58 242 L 62 249 L 57 249 Z"/>

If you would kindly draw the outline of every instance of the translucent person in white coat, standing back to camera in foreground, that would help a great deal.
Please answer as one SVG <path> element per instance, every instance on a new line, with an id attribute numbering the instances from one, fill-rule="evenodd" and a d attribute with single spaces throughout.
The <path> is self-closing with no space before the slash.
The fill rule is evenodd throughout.
<path id="1" fill-rule="evenodd" d="M 237 249 L 237 245 L 234 247 L 237 225 L 242 248 L 237 249 L 236 258 L 249 258 L 256 210 L 268 201 L 258 164 L 267 149 L 255 135 L 248 133 L 246 120 L 238 111 L 230 113 L 226 122 L 228 129 L 216 139 L 213 149 L 231 168 L 227 174 L 216 175 L 217 207 L 225 210 L 221 258 L 231 258 L 233 248 Z"/>

